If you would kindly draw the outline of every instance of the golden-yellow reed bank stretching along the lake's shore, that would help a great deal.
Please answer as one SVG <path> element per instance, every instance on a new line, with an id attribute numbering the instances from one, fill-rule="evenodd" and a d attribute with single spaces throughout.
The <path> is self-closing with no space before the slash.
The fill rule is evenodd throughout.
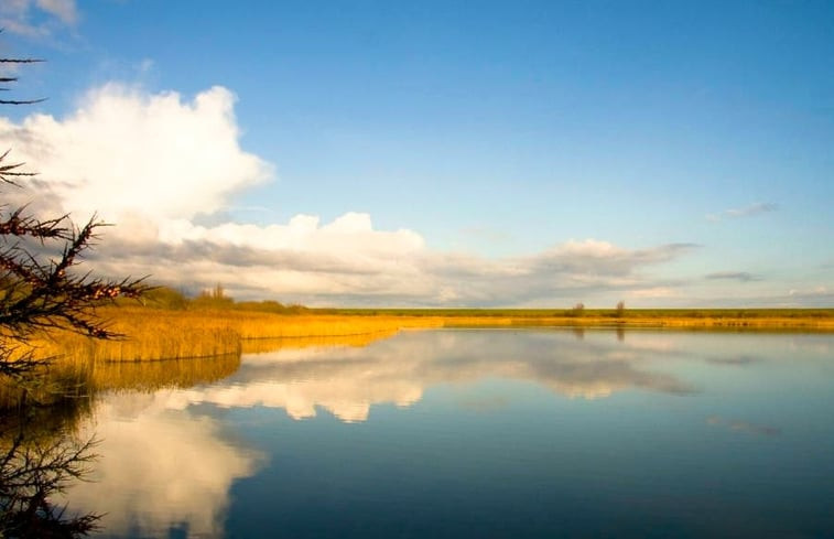
<path id="1" fill-rule="evenodd" d="M 95 341 L 52 333 L 34 342 L 41 357 L 69 362 L 143 362 L 239 355 L 274 347 L 261 339 L 392 334 L 405 327 L 614 326 L 834 332 L 834 310 L 305 310 L 297 314 L 240 309 L 165 310 L 112 306 L 99 314 L 127 337 Z"/>

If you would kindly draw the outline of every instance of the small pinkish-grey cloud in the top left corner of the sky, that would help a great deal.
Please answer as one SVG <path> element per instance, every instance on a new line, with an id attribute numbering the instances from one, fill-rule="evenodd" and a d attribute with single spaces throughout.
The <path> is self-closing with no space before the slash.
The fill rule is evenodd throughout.
<path id="1" fill-rule="evenodd" d="M 3 0 L 0 28 L 28 37 L 45 37 L 58 25 L 78 22 L 75 0 Z"/>

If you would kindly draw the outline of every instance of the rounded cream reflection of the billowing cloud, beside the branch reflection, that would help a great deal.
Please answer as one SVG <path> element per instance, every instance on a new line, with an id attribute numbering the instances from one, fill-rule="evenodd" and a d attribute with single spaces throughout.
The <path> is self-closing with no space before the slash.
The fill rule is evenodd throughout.
<path id="1" fill-rule="evenodd" d="M 216 420 L 173 412 L 169 398 L 111 395 L 96 411 L 94 482 L 68 497 L 75 509 L 107 513 L 110 533 L 167 537 L 183 526 L 188 537 L 218 536 L 232 481 L 256 471 L 257 457 L 225 442 Z"/>

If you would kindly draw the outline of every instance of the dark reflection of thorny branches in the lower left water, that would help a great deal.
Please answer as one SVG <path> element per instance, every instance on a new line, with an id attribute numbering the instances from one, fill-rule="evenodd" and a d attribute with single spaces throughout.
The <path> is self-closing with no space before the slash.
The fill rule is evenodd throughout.
<path id="1" fill-rule="evenodd" d="M 21 408 L 0 417 L 0 537 L 74 538 L 97 529 L 99 516 L 67 515 L 52 502 L 89 473 L 96 456 L 95 442 L 68 435 L 52 408 Z M 77 416 L 63 419 L 72 422 Z M 50 420 L 34 421 L 41 417 Z"/>

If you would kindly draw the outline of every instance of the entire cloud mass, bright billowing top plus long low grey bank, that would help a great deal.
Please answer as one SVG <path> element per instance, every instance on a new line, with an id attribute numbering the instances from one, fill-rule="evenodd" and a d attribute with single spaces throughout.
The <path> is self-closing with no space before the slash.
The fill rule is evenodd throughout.
<path id="1" fill-rule="evenodd" d="M 674 288 L 648 272 L 696 247 L 586 239 L 491 259 L 433 251 L 416 231 L 379 230 L 364 213 L 327 223 L 315 215 L 228 222 L 221 216 L 236 194 L 273 179 L 269 163 L 241 149 L 234 105 L 223 87 L 186 98 L 108 84 L 64 118 L 0 118 L 0 147 L 37 170 L 25 193 L 34 211 L 79 220 L 98 212 L 117 225 L 90 255 L 98 272 L 193 289 L 221 282 L 238 298 L 404 305 L 639 298 Z"/>

